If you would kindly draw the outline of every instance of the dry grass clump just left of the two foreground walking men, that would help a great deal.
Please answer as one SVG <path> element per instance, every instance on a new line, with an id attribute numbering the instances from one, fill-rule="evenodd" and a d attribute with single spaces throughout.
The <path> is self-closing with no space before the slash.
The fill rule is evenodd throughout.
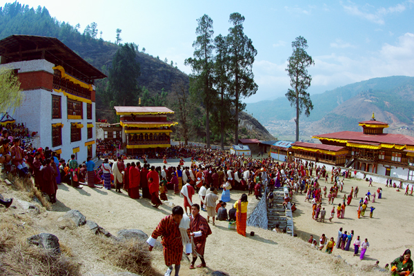
<path id="1" fill-rule="evenodd" d="M 97 237 L 95 242 L 101 249 L 101 257 L 111 264 L 130 273 L 142 276 L 160 275 L 152 268 L 148 246 L 144 242 L 130 239 L 126 242 L 115 242 L 108 237 Z M 116 256 L 116 257 L 114 257 Z"/>

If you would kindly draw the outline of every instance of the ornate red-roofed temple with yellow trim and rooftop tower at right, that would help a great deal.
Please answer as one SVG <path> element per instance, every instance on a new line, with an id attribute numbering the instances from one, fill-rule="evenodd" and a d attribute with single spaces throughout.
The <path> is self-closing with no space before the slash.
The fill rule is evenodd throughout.
<path id="1" fill-rule="evenodd" d="M 361 121 L 362 132 L 315 135 L 322 144 L 295 142 L 295 157 L 414 180 L 414 137 L 384 133 L 388 124 Z"/>

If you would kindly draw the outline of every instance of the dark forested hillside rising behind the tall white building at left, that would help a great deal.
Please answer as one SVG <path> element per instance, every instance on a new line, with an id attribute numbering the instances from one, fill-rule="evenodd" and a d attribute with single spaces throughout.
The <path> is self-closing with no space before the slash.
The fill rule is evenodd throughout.
<path id="1" fill-rule="evenodd" d="M 91 19 L 92 20 L 92 19 Z M 117 26 L 114 26 L 116 30 Z M 118 33 L 118 30 L 117 30 Z M 121 30 L 119 30 L 119 34 Z M 0 39 L 4 39 L 12 34 L 30 34 L 45 37 L 56 37 L 74 50 L 79 56 L 86 59 L 93 66 L 101 70 L 107 76 L 110 72 L 114 72 L 117 68 L 113 68 L 113 59 L 117 52 L 122 48 L 133 49 L 134 60 L 137 62 L 137 75 L 135 76 L 136 87 L 130 90 L 127 95 L 128 105 L 138 105 L 138 99 L 141 97 L 141 103 L 144 106 L 167 106 L 172 110 L 178 110 L 177 97 L 183 96 L 179 91 L 183 91 L 184 95 L 188 95 L 187 101 L 190 99 L 188 92 L 189 77 L 184 72 L 178 70 L 172 63 L 166 63 L 159 57 L 152 57 L 143 51 L 139 51 L 136 43 L 114 43 L 104 41 L 101 38 L 99 26 L 92 22 L 81 30 L 81 26 L 77 24 L 72 26 L 69 23 L 62 22 L 52 17 L 46 7 L 30 8 L 28 5 L 21 5 L 18 2 L 6 3 L 0 7 Z M 115 37 L 115 32 L 114 32 Z M 137 41 L 139 42 L 139 41 Z M 112 70 L 112 71 L 111 71 Z M 128 70 L 125 70 L 128 71 Z M 123 101 L 116 94 L 113 85 L 107 79 L 96 81 L 97 85 L 97 118 L 108 119 L 110 122 L 117 121 L 117 116 L 113 110 L 113 106 L 121 104 Z M 125 95 L 124 95 L 125 96 Z M 188 124 L 190 125 L 190 139 L 193 141 L 205 141 L 206 139 L 206 115 L 205 107 L 200 102 L 188 105 Z M 170 119 L 180 121 L 175 117 Z M 214 122 L 213 122 L 214 123 Z M 214 124 L 213 124 L 214 125 Z M 253 123 L 251 125 L 254 125 Z M 182 133 L 182 124 L 177 126 L 175 132 L 176 139 L 183 139 L 179 136 Z M 226 132 L 225 144 L 233 142 L 232 127 Z M 220 141 L 219 129 L 213 127 L 211 132 L 212 142 Z M 259 133 L 259 139 L 273 139 L 266 129 L 244 130 L 240 138 L 253 137 Z"/>

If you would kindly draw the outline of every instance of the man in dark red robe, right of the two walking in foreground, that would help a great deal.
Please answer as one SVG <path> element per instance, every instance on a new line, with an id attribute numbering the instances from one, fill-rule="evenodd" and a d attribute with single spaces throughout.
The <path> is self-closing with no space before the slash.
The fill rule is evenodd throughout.
<path id="1" fill-rule="evenodd" d="M 201 217 L 200 206 L 193 204 L 191 206 L 191 221 L 190 221 L 190 236 L 194 239 L 195 248 L 193 248 L 193 261 L 191 262 L 190 269 L 194 269 L 195 261 L 197 257 L 200 257 L 201 264 L 197 268 L 206 267 L 206 261 L 204 260 L 204 248 L 206 247 L 206 241 L 208 235 L 211 234 L 210 226 L 208 226 L 207 220 Z"/>

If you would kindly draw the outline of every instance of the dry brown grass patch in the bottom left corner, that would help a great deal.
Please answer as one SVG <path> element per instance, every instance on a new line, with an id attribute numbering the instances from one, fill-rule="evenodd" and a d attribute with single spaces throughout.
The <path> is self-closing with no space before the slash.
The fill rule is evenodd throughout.
<path id="1" fill-rule="evenodd" d="M 45 250 L 18 242 L 1 255 L 5 275 L 80 276 L 80 265 L 65 255 L 50 257 Z"/>

